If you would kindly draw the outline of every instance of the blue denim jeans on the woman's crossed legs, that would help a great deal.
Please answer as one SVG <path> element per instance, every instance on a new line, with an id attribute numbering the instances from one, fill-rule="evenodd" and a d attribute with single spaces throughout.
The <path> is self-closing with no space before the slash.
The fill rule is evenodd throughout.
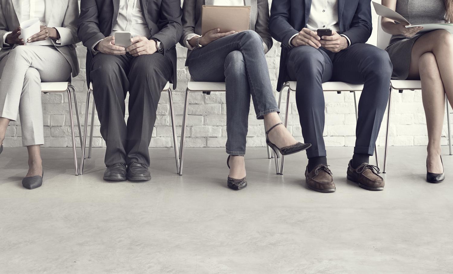
<path id="1" fill-rule="evenodd" d="M 246 154 L 250 96 L 257 119 L 279 112 L 260 36 L 247 30 L 220 38 L 193 50 L 187 66 L 195 81 L 226 82 L 226 153 Z"/>

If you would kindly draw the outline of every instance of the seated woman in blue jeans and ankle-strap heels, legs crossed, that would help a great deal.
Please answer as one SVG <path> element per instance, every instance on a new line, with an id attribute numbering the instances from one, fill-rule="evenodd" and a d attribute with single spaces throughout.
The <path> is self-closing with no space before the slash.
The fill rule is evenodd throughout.
<path id="1" fill-rule="evenodd" d="M 201 36 L 202 5 L 251 6 L 250 29 L 240 33 L 219 33 L 212 29 Z M 281 154 L 293 154 L 310 144 L 297 142 L 282 125 L 270 84 L 265 53 L 272 47 L 268 31 L 267 0 L 184 0 L 184 34 L 180 41 L 188 48 L 186 66 L 193 80 L 226 82 L 226 153 L 230 168 L 227 185 L 247 186 L 244 155 L 250 97 L 257 119 L 264 119 L 266 143 Z M 219 26 L 220 27 L 220 26 Z"/>

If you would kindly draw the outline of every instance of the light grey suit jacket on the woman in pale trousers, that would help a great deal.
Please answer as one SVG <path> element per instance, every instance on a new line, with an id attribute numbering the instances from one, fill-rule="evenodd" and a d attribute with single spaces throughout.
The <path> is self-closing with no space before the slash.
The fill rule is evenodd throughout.
<path id="1" fill-rule="evenodd" d="M 0 0 L 0 61 L 10 53 L 11 49 L 18 46 L 15 44 L 12 47 L 4 47 L 3 36 L 19 27 L 21 2 L 22 0 Z M 45 0 L 44 16 L 47 26 L 58 30 L 61 43 L 53 42 L 53 45 L 71 65 L 72 77 L 76 77 L 79 74 L 79 63 L 75 44 L 80 42 L 77 38 L 79 16 L 77 0 Z"/>

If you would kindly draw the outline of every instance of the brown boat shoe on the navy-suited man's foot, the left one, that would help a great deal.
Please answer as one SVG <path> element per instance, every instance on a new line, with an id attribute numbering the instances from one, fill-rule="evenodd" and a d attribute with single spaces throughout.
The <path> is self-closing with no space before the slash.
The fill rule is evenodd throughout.
<path id="1" fill-rule="evenodd" d="M 308 172 L 307 166 L 305 182 L 307 182 L 309 188 L 318 192 L 334 192 L 336 190 L 332 172 L 325 164 L 317 165 L 311 172 Z"/>

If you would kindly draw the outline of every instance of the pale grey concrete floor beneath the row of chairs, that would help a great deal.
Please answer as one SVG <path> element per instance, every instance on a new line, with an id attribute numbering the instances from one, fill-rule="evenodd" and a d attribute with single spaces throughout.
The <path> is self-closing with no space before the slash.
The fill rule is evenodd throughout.
<path id="1" fill-rule="evenodd" d="M 329 148 L 333 193 L 306 187 L 304 154 L 281 176 L 264 148 L 248 149 L 241 191 L 224 149 L 187 149 L 183 176 L 172 149 L 151 149 L 148 183 L 104 182 L 104 149 L 82 176 L 71 149 L 42 151 L 35 190 L 20 183 L 26 149 L 0 156 L 2 274 L 453 273 L 453 156 L 426 183 L 424 147 L 390 148 L 381 192 L 347 181 L 352 148 Z"/>

